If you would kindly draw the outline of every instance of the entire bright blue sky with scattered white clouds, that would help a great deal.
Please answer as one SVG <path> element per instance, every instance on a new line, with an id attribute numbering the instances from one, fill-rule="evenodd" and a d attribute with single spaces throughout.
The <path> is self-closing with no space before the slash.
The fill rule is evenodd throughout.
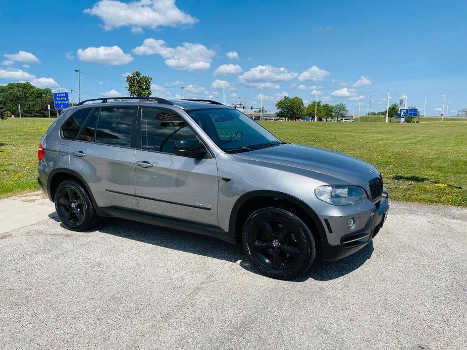
<path id="1" fill-rule="evenodd" d="M 125 95 L 125 73 L 153 95 L 386 108 L 400 94 L 427 115 L 467 107 L 467 2 L 0 0 L 0 84 L 31 81 L 81 97 Z M 230 52 L 230 54 L 228 54 Z M 223 83 L 224 82 L 224 83 Z"/>

